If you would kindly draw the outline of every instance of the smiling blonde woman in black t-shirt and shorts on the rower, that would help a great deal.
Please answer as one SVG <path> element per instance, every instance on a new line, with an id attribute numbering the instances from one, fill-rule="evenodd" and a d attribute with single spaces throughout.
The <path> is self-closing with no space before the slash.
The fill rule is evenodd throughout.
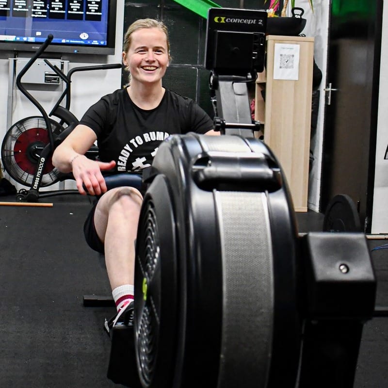
<path id="1" fill-rule="evenodd" d="M 118 311 L 113 324 L 133 308 L 134 241 L 143 196 L 133 187 L 107 191 L 101 172 L 140 171 L 151 164 L 161 141 L 172 133 L 218 134 L 193 100 L 162 87 L 170 61 L 168 32 L 162 22 L 140 19 L 132 23 L 122 57 L 130 86 L 90 107 L 52 157 L 60 171 L 73 172 L 81 194 L 86 194 L 84 186 L 89 194 L 99 196 L 84 233 L 88 244 L 105 254 Z M 99 161 L 92 161 L 84 154 L 96 140 Z"/>

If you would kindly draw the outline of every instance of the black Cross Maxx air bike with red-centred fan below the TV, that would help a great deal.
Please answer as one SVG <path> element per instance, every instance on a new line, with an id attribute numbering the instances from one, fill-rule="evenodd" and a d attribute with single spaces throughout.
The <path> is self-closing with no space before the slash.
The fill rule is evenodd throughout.
<path id="1" fill-rule="evenodd" d="M 48 48 L 53 35 L 50 34 L 40 49 L 22 68 L 16 77 L 17 88 L 32 102 L 41 116 L 30 116 L 16 122 L 4 136 L 1 145 L 1 160 L 7 173 L 16 182 L 29 187 L 16 194 L 17 201 L 37 202 L 45 198 L 63 194 L 79 194 L 78 190 L 40 191 L 41 188 L 66 179 L 74 179 L 72 174 L 63 174 L 52 165 L 54 149 L 78 124 L 77 117 L 70 111 L 71 77 L 75 72 L 108 70 L 121 68 L 121 64 L 105 64 L 74 67 L 67 74 L 56 65 L 44 59 L 44 62 L 65 82 L 65 89 L 50 113 L 28 92 L 22 82 L 23 76 L 34 62 Z M 65 101 L 64 106 L 61 103 Z M 55 120 L 54 120 L 55 118 Z M 90 159 L 98 157 L 97 146 L 91 147 L 85 154 Z M 107 187 L 131 185 L 141 186 L 141 176 L 137 174 L 117 174 L 105 177 Z"/>

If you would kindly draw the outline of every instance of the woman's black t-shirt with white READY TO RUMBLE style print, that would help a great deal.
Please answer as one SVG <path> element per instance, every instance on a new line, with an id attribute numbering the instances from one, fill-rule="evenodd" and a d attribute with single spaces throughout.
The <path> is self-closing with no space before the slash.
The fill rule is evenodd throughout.
<path id="1" fill-rule="evenodd" d="M 126 89 L 102 97 L 80 124 L 96 132 L 99 160 L 116 162 L 116 171 L 140 171 L 151 165 L 160 143 L 173 133 L 206 133 L 213 122 L 194 100 L 167 90 L 158 107 L 143 110 Z"/>

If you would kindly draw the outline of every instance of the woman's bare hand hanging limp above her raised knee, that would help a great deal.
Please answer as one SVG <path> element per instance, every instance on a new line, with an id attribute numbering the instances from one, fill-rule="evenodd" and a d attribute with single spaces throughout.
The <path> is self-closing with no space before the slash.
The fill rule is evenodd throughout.
<path id="1" fill-rule="evenodd" d="M 101 171 L 111 170 L 116 162 L 97 162 L 84 155 L 76 156 L 71 162 L 73 176 L 80 194 L 101 195 L 107 191 Z M 86 188 L 86 191 L 85 191 Z"/>

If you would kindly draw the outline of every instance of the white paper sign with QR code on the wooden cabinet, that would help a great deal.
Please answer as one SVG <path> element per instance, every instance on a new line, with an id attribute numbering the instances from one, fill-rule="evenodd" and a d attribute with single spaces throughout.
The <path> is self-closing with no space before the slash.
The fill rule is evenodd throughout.
<path id="1" fill-rule="evenodd" d="M 299 79 L 299 45 L 275 43 L 274 80 Z"/>

